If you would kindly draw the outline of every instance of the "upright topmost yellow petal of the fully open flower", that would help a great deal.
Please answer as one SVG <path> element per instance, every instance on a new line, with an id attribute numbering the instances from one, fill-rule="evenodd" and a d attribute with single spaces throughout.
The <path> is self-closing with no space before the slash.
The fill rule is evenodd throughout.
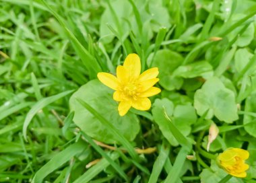
<path id="1" fill-rule="evenodd" d="M 127 69 L 129 73 L 129 77 L 132 77 L 132 78 L 139 77 L 140 70 L 141 70 L 139 56 L 135 53 L 128 54 L 128 56 L 125 59 L 125 62 L 123 63 L 123 67 Z"/>

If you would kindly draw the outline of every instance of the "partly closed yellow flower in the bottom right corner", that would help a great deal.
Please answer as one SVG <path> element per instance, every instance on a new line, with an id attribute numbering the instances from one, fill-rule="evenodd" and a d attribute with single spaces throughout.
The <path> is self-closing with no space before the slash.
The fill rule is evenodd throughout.
<path id="1" fill-rule="evenodd" d="M 245 163 L 248 157 L 249 152 L 244 149 L 229 148 L 218 155 L 218 163 L 228 174 L 245 178 L 247 176 L 245 171 L 249 169 L 249 165 Z"/>

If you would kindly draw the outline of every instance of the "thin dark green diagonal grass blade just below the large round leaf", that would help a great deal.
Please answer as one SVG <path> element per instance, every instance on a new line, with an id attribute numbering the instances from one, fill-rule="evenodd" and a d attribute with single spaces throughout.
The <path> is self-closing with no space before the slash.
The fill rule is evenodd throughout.
<path id="1" fill-rule="evenodd" d="M 123 172 L 122 168 L 119 165 L 117 165 L 117 163 L 115 163 L 115 161 L 113 161 L 113 159 L 111 159 L 106 153 L 104 153 L 104 151 L 98 145 L 96 145 L 96 143 L 94 143 L 94 141 L 88 135 L 86 135 L 86 133 L 82 131 L 80 133 L 82 133 L 86 141 L 88 141 L 88 143 L 90 143 L 90 145 L 92 145 L 92 147 L 98 153 L 100 153 L 100 155 L 102 155 L 102 157 L 104 157 L 110 163 L 111 166 L 113 166 L 117 173 L 119 173 L 120 176 L 122 176 L 126 181 L 128 181 L 128 177 L 125 174 L 125 172 Z"/>

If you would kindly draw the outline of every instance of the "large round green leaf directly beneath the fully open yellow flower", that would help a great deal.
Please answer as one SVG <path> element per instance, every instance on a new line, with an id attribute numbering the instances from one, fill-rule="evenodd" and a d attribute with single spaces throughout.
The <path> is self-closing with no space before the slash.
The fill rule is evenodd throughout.
<path id="1" fill-rule="evenodd" d="M 104 86 L 98 80 L 92 80 L 80 87 L 70 98 L 69 106 L 75 112 L 73 121 L 84 133 L 104 143 L 118 143 L 119 139 L 107 131 L 106 127 L 84 108 L 76 98 L 84 100 L 97 110 L 106 120 L 118 129 L 129 141 L 135 139 L 139 133 L 139 120 L 137 116 L 128 112 L 119 116 L 118 103 L 113 100 L 113 90 Z"/>

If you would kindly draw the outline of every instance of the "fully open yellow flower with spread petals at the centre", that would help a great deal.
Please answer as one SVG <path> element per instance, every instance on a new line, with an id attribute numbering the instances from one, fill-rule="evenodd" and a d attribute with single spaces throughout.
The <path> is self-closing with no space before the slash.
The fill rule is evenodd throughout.
<path id="1" fill-rule="evenodd" d="M 133 107 L 137 110 L 149 110 L 151 102 L 148 97 L 160 93 L 153 87 L 159 79 L 158 68 L 154 67 L 141 73 L 141 63 L 137 54 L 129 54 L 125 62 L 117 67 L 117 77 L 110 73 L 98 73 L 98 79 L 106 86 L 116 90 L 114 100 L 119 103 L 119 114 L 124 116 Z"/>

